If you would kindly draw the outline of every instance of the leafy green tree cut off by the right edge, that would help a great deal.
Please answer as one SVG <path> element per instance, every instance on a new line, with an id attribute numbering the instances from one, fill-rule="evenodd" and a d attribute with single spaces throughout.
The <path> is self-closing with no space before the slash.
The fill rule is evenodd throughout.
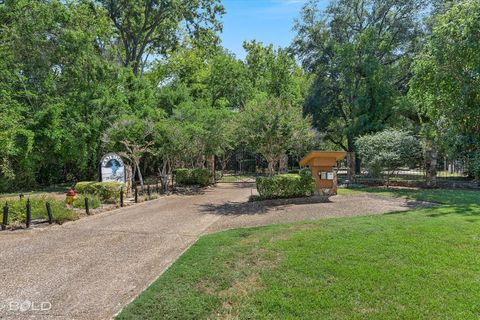
<path id="1" fill-rule="evenodd" d="M 411 96 L 425 138 L 470 158 L 480 178 L 480 3 L 460 1 L 432 23 L 413 69 Z"/>

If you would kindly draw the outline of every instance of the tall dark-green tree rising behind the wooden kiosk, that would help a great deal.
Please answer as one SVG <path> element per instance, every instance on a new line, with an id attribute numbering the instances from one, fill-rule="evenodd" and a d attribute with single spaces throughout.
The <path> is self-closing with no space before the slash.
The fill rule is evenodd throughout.
<path id="1" fill-rule="evenodd" d="M 311 0 L 304 6 L 292 44 L 316 76 L 304 111 L 339 148 L 354 152 L 358 136 L 392 121 L 407 91 L 424 2 L 337 0 L 320 11 L 320 1 Z"/>

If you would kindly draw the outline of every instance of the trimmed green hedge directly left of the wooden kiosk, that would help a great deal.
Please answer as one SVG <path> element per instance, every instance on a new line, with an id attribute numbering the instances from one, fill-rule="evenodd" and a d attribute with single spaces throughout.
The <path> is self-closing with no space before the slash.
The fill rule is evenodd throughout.
<path id="1" fill-rule="evenodd" d="M 309 169 L 299 174 L 280 174 L 273 177 L 258 177 L 259 199 L 281 199 L 311 196 L 315 192 L 315 180 Z"/>

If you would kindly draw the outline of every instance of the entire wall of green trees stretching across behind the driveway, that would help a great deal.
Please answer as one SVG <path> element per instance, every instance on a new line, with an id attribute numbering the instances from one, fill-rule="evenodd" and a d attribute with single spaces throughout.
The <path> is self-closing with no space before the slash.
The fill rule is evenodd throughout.
<path id="1" fill-rule="evenodd" d="M 107 152 L 164 188 L 239 145 L 273 174 L 388 128 L 480 177 L 478 1 L 320 2 L 291 48 L 252 39 L 239 60 L 220 0 L 0 1 L 0 191 L 96 180 Z"/>

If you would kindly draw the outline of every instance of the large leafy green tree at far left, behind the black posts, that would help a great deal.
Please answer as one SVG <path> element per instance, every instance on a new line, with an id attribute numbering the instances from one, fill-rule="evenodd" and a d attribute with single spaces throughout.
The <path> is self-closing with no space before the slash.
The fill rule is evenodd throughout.
<path id="1" fill-rule="evenodd" d="M 35 133 L 18 171 L 32 172 L 29 184 L 93 178 L 101 132 L 126 105 L 121 69 L 108 61 L 108 16 L 89 1 L 8 0 L 0 21 L 10 106 Z"/>

